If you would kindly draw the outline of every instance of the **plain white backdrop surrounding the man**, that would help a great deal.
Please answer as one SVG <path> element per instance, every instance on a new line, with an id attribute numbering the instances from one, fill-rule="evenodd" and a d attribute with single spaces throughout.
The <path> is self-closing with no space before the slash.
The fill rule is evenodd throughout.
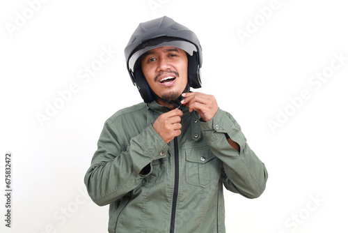
<path id="1" fill-rule="evenodd" d="M 1 1 L 0 186 L 4 192 L 4 157 L 12 152 L 13 206 L 8 229 L 0 195 L 0 231 L 107 232 L 108 206 L 86 197 L 84 174 L 104 121 L 142 101 L 125 45 L 139 22 L 163 15 L 195 31 L 203 46 L 199 91 L 237 119 L 269 172 L 258 199 L 226 192 L 227 232 L 347 232 L 348 14 L 341 0 Z M 118 52 L 88 82 L 79 78 L 103 47 Z M 323 72 L 325 82 L 313 80 Z M 75 93 L 59 102 L 71 84 Z M 54 103 L 60 109 L 40 123 L 38 114 L 47 116 Z M 278 122 L 273 130 L 270 121 Z"/>

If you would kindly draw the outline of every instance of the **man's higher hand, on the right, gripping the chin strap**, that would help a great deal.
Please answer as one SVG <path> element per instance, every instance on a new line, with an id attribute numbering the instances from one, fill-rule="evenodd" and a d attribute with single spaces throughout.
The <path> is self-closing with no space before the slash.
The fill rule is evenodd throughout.
<path id="1" fill-rule="evenodd" d="M 190 112 L 198 112 L 204 121 L 210 121 L 219 110 L 214 96 L 199 92 L 182 93 L 182 96 L 185 99 L 181 103 L 186 104 Z"/>

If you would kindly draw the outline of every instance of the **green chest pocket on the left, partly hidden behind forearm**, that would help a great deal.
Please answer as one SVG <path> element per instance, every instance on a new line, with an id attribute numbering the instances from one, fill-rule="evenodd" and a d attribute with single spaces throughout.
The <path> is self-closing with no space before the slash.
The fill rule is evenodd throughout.
<path id="1" fill-rule="evenodd" d="M 160 158 L 151 162 L 151 172 L 143 179 L 143 186 L 151 187 L 164 181 L 167 158 Z"/>

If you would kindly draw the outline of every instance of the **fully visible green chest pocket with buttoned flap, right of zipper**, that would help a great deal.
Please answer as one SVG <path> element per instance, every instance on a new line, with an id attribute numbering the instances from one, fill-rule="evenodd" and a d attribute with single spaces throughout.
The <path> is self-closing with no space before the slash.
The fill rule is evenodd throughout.
<path id="1" fill-rule="evenodd" d="M 221 161 L 208 146 L 185 149 L 185 156 L 187 183 L 207 188 L 219 181 Z"/>

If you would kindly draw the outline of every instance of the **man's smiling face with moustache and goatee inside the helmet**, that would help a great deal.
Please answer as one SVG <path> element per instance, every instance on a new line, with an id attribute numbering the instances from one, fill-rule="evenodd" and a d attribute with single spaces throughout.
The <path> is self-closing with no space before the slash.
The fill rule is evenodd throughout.
<path id="1" fill-rule="evenodd" d="M 175 100 L 184 91 L 187 66 L 186 52 L 176 47 L 157 47 L 141 59 L 141 68 L 150 88 L 165 100 Z M 163 101 L 157 102 L 162 104 Z"/>

